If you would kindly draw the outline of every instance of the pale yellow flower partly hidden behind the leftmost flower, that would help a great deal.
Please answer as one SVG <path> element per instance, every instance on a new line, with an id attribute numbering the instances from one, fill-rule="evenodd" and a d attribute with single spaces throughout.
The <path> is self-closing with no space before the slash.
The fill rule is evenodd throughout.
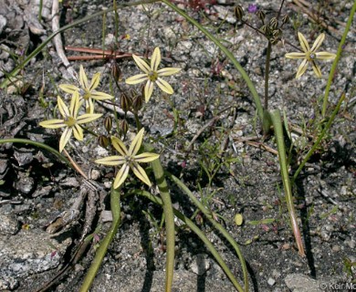
<path id="1" fill-rule="evenodd" d="M 88 82 L 87 74 L 84 71 L 83 66 L 80 65 L 79 69 L 79 83 L 81 89 L 79 87 L 72 84 L 61 84 L 59 85 L 59 89 L 67 93 L 73 94 L 75 91 L 79 92 L 80 98 L 85 100 L 85 108 L 89 113 L 94 112 L 94 104 L 93 99 L 95 100 L 105 100 L 105 99 L 113 99 L 114 97 L 110 94 L 99 92 L 95 90 L 99 86 L 100 81 L 100 73 L 95 73 L 91 82 Z"/>

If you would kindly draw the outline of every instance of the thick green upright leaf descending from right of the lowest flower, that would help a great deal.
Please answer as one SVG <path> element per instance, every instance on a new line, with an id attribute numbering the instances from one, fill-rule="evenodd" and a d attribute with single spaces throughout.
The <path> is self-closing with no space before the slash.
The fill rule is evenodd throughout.
<path id="1" fill-rule="evenodd" d="M 144 148 L 146 151 L 149 152 L 152 152 L 154 150 L 152 145 L 150 144 L 145 144 Z M 171 292 L 172 285 L 173 285 L 174 246 L 175 246 L 173 205 L 171 201 L 171 195 L 168 189 L 168 184 L 164 178 L 164 172 L 160 160 L 156 159 L 155 161 L 151 162 L 151 166 L 154 173 L 154 177 L 156 179 L 158 189 L 160 190 L 162 203 L 163 203 L 163 213 L 165 219 L 166 241 L 167 241 L 165 292 Z"/>

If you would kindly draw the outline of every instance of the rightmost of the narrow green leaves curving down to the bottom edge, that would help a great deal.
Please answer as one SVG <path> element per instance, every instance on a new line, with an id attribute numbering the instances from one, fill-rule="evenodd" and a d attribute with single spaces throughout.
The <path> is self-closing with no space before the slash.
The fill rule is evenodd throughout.
<path id="1" fill-rule="evenodd" d="M 205 217 L 209 220 L 209 222 L 211 224 L 214 225 L 214 227 L 222 234 L 225 236 L 226 240 L 230 243 L 230 245 L 232 245 L 234 247 L 234 249 L 236 250 L 236 254 L 238 256 L 238 259 L 240 260 L 240 264 L 242 267 L 242 272 L 244 275 L 244 282 L 245 282 L 245 291 L 248 291 L 248 276 L 247 276 L 247 267 L 246 267 L 246 262 L 245 262 L 245 258 L 242 255 L 240 248 L 238 247 L 238 245 L 236 244 L 235 239 L 228 234 L 228 232 L 225 230 L 225 228 L 221 225 L 218 224 L 214 217 L 213 214 L 210 210 L 207 210 L 203 203 L 200 203 L 198 199 L 196 199 L 196 197 L 194 196 L 194 194 L 186 187 L 186 185 L 184 183 L 181 182 L 180 179 L 178 179 L 177 177 L 175 177 L 173 174 L 169 173 L 169 172 L 165 172 L 167 177 L 173 181 L 173 183 L 177 184 L 178 187 L 184 192 L 186 193 L 189 198 L 192 200 L 192 202 L 199 208 L 199 210 L 205 215 Z"/>

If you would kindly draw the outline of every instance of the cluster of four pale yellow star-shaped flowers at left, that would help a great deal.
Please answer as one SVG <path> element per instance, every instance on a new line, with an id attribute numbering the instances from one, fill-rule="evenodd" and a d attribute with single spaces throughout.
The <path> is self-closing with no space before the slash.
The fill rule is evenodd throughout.
<path id="1" fill-rule="evenodd" d="M 168 94 L 173 94 L 173 88 L 167 81 L 163 80 L 162 77 L 178 73 L 181 68 L 158 69 L 161 63 L 161 51 L 159 47 L 156 47 L 153 51 L 150 64 L 151 66 L 141 59 L 141 57 L 135 55 L 132 55 L 132 57 L 137 66 L 143 71 L 143 74 L 127 78 L 126 83 L 138 84 L 146 81 L 146 85 L 144 87 L 144 97 L 146 102 L 148 102 L 152 97 L 154 84 L 157 84 L 162 91 Z M 69 109 L 63 99 L 58 96 L 58 110 L 62 116 L 62 119 L 44 120 L 39 123 L 40 126 L 48 129 L 65 128 L 59 140 L 59 151 L 64 150 L 72 134 L 77 140 L 82 141 L 84 137 L 81 125 L 97 120 L 102 116 L 101 114 L 94 113 L 94 100 L 114 98 L 107 93 L 96 90 L 99 86 L 99 78 L 100 73 L 96 73 L 89 83 L 84 68 L 80 66 L 80 88 L 71 84 L 59 85 L 60 89 L 71 94 Z M 79 110 L 83 104 L 85 104 L 86 113 L 79 115 Z M 104 165 L 122 165 L 114 180 L 114 188 L 120 187 L 120 185 L 126 180 L 130 169 L 143 183 L 151 186 L 150 179 L 143 168 L 139 165 L 139 162 L 152 162 L 158 159 L 160 155 L 150 152 L 137 154 L 141 148 L 143 132 L 143 129 L 138 132 L 132 140 L 129 150 L 119 138 L 111 137 L 112 146 L 120 153 L 120 155 L 109 156 L 95 161 Z"/>

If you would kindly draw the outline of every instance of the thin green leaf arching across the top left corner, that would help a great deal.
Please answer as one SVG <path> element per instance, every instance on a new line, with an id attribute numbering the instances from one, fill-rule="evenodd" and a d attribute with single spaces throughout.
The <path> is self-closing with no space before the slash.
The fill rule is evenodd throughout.
<path id="1" fill-rule="evenodd" d="M 142 4 L 149 4 L 149 3 L 154 3 L 154 2 L 158 2 L 159 0 L 145 0 L 145 1 L 137 1 L 137 2 L 132 2 L 132 3 L 124 3 L 121 5 L 118 5 L 117 8 L 123 8 L 123 7 L 128 7 L 128 6 L 135 6 L 135 5 L 142 5 Z M 33 58 L 36 57 L 37 54 L 39 52 L 41 52 L 46 46 L 47 44 L 52 40 L 53 37 L 57 36 L 58 34 L 66 31 L 69 28 L 72 28 L 74 26 L 79 26 L 82 23 L 85 23 L 87 21 L 89 21 L 92 18 L 98 17 L 98 16 L 102 16 L 104 14 L 110 13 L 114 11 L 114 8 L 110 8 L 110 9 L 106 9 L 103 11 L 99 11 L 93 15 L 90 16 L 85 16 L 84 18 L 81 18 L 67 26 L 63 26 L 61 28 L 58 29 L 58 31 L 55 31 L 54 33 L 52 33 L 50 36 L 47 37 L 47 39 L 41 44 L 39 45 L 34 51 L 31 52 L 31 54 L 29 54 L 26 59 L 19 65 L 17 66 L 10 74 L 9 74 L 9 78 L 6 78 L 1 84 L 0 84 L 0 89 L 5 89 L 5 87 L 8 85 L 9 82 L 11 82 L 11 78 L 16 77 L 16 75 L 18 74 L 18 72 L 20 72 L 20 70 L 22 70 L 22 68 L 25 68 L 25 66 L 29 63 L 29 61 Z"/>

